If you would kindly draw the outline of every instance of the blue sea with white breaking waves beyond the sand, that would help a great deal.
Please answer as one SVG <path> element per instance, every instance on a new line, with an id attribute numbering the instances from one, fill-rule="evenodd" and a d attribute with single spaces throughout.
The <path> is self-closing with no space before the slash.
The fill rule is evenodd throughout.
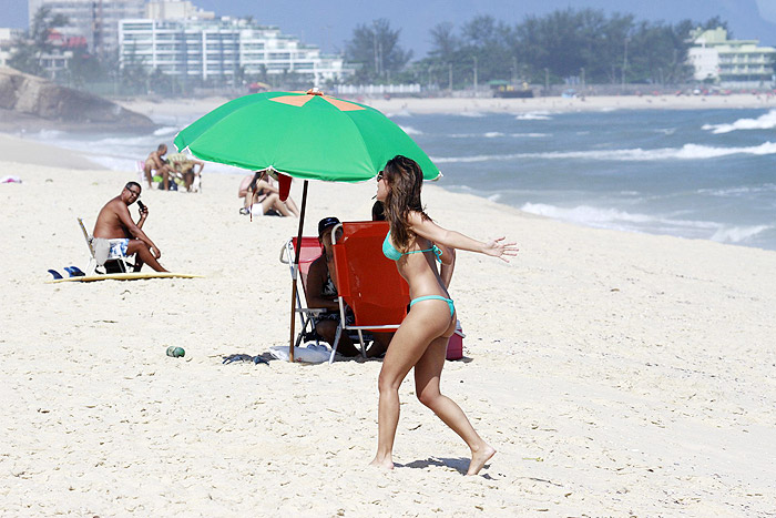
<path id="1" fill-rule="evenodd" d="M 776 250 L 776 110 L 388 115 L 450 191 L 586 226 Z M 133 170 L 192 120 L 134 136 L 32 136 Z"/>

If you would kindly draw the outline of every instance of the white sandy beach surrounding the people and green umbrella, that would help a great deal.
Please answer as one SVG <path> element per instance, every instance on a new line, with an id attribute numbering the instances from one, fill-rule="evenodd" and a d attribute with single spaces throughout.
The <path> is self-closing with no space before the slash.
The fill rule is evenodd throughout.
<path id="1" fill-rule="evenodd" d="M 466 446 L 408 379 L 382 473 L 366 467 L 379 362 L 221 363 L 287 343 L 277 256 L 296 220 L 249 223 L 241 179 L 205 170 L 201 195 L 142 195 L 163 264 L 205 278 L 44 284 L 49 267 L 85 267 L 75 216 L 92 225 L 134 175 L 0 162 L 4 174 L 23 183 L 0 185 L 3 515 L 776 510 L 774 252 L 581 228 L 428 186 L 443 226 L 521 247 L 509 265 L 461 253 L 451 290 L 469 359 L 447 363 L 442 388 L 499 453 L 464 477 Z M 367 217 L 374 191 L 313 183 L 307 233 Z"/>

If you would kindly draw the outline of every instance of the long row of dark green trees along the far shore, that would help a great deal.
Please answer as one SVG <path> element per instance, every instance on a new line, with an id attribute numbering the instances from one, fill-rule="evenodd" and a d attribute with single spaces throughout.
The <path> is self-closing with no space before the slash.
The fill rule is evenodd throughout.
<path id="1" fill-rule="evenodd" d="M 606 16 L 594 9 L 557 10 L 512 26 L 478 16 L 458 30 L 451 23 L 432 28 L 428 55 L 402 67 L 409 53 L 397 42 L 399 31 L 391 30 L 386 20 L 377 20 L 356 28 L 346 58 L 360 64 L 354 82 L 409 80 L 443 88 L 496 80 L 671 84 L 692 78 L 692 68 L 686 64 L 688 38 L 697 27 L 726 23 L 718 18 L 705 23 L 636 21 L 632 14 Z M 394 55 L 396 59 L 388 59 Z M 376 67 L 380 62 L 385 65 Z"/>

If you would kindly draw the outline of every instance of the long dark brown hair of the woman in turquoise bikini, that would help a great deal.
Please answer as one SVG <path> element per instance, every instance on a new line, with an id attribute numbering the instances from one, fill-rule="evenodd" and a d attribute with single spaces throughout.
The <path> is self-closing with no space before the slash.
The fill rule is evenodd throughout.
<path id="1" fill-rule="evenodd" d="M 430 220 L 420 202 L 423 172 L 415 160 L 397 155 L 382 169 L 382 177 L 389 187 L 385 211 L 390 223 L 390 233 L 394 243 L 401 251 L 406 251 L 413 236 L 409 230 L 409 213 L 413 211 L 423 220 Z"/>

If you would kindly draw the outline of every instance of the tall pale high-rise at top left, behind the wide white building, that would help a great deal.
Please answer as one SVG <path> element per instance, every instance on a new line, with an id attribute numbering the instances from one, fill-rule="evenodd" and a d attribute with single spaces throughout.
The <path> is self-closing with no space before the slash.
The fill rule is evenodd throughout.
<path id="1" fill-rule="evenodd" d="M 145 0 L 28 0 L 30 27 L 41 7 L 68 18 L 58 30 L 65 37 L 84 37 L 90 52 L 105 54 L 119 48 L 119 21 L 145 16 Z"/>

